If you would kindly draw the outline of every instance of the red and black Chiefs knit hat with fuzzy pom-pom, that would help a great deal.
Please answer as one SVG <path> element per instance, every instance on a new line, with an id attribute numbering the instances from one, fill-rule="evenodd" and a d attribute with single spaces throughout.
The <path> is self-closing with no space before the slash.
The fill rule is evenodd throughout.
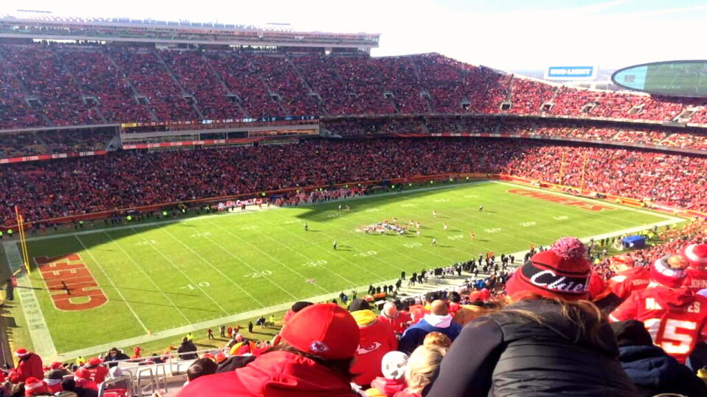
<path id="1" fill-rule="evenodd" d="M 591 263 L 587 248 L 575 237 L 563 237 L 534 254 L 506 283 L 510 297 L 540 295 L 564 300 L 588 298 Z"/>

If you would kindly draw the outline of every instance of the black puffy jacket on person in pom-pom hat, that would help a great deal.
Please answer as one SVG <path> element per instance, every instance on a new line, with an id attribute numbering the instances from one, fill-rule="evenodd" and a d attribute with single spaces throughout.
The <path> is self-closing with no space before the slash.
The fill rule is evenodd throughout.
<path id="1" fill-rule="evenodd" d="M 536 314 L 542 325 L 510 309 Z M 560 309 L 551 300 L 523 300 L 470 322 L 427 397 L 634 396 L 609 324 L 590 336 Z"/>

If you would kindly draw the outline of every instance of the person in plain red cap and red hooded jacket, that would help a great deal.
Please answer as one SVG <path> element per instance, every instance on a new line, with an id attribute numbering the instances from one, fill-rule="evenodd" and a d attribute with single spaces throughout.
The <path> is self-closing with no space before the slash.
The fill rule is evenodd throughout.
<path id="1" fill-rule="evenodd" d="M 355 396 L 351 363 L 359 331 L 349 312 L 313 304 L 292 316 L 281 337 L 246 367 L 196 379 L 177 396 Z"/>

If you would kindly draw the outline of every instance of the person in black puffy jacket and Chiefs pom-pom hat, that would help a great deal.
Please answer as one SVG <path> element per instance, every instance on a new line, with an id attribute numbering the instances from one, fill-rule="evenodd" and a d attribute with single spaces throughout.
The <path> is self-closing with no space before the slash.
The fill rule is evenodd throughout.
<path id="1" fill-rule="evenodd" d="M 586 252 L 565 237 L 534 254 L 506 283 L 513 304 L 464 327 L 428 397 L 633 396 L 611 327 L 584 300 Z"/>

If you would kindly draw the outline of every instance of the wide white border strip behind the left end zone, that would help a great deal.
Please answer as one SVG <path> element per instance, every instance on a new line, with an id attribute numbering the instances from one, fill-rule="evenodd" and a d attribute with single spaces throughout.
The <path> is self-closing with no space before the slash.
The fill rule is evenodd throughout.
<path id="1" fill-rule="evenodd" d="M 23 266 L 20 250 L 17 248 L 16 242 L 4 242 L 3 247 L 10 273 L 15 273 L 18 268 Z M 17 276 L 17 286 L 15 293 L 19 296 L 22 312 L 25 314 L 25 323 L 27 323 L 35 352 L 42 357 L 56 355 L 57 348 L 54 347 L 52 334 L 49 333 L 47 321 L 45 321 L 44 314 L 42 314 L 40 302 L 37 300 L 32 281 L 27 273 L 22 272 Z"/>

